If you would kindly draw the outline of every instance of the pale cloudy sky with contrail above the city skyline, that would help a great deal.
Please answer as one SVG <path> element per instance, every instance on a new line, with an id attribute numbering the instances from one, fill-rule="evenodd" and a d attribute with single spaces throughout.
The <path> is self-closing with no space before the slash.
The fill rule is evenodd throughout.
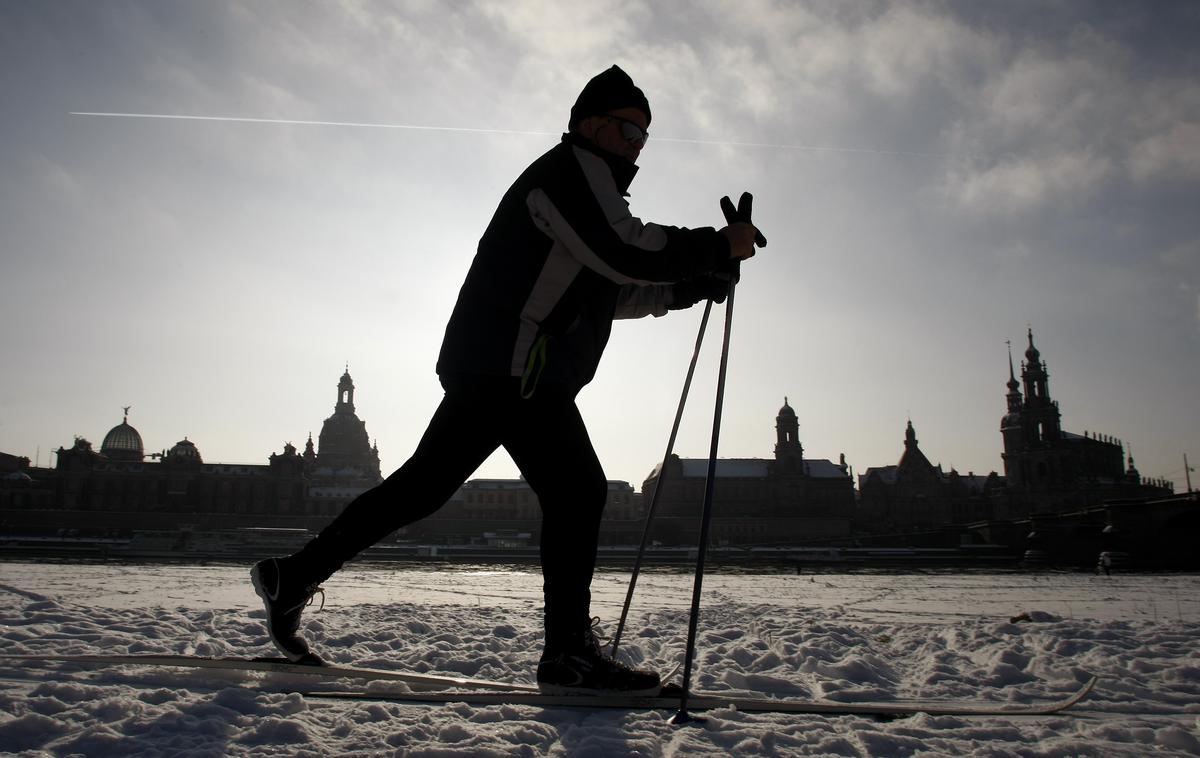
<path id="1" fill-rule="evenodd" d="M 1198 32 L 1170 1 L 0 0 L 0 451 L 53 465 L 130 405 L 146 452 L 265 463 L 348 366 L 400 467 L 500 195 L 618 64 L 653 110 L 634 215 L 721 225 L 751 191 L 769 241 L 721 457 L 770 457 L 786 397 L 806 457 L 894 464 L 911 420 L 930 461 L 1002 474 L 1032 329 L 1063 427 L 1182 491 Z M 578 399 L 610 479 L 662 457 L 701 311 L 616 324 Z M 708 455 L 725 315 L 683 457 Z"/>

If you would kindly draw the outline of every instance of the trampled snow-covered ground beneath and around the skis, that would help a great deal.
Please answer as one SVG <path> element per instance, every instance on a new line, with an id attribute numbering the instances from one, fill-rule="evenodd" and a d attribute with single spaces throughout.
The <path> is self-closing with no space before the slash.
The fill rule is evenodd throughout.
<path id="1" fill-rule="evenodd" d="M 0 655 L 272 655 L 247 566 L 0 563 Z M 594 583 L 612 631 L 629 574 Z M 355 565 L 306 614 L 338 663 L 532 681 L 530 568 Z M 0 661 L 0 752 L 28 756 L 1198 756 L 1200 577 L 713 574 L 696 688 L 1030 702 L 1038 717 L 874 720 L 306 700 L 313 678 Z M 682 660 L 691 577 L 643 574 L 623 650 Z M 1014 621 L 1016 616 L 1024 619 Z M 394 685 L 392 685 L 394 686 Z"/>

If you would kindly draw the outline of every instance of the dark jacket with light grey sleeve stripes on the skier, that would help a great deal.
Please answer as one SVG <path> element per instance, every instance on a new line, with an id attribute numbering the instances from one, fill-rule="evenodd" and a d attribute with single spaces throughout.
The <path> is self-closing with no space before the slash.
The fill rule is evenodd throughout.
<path id="1" fill-rule="evenodd" d="M 595 375 L 614 318 L 662 315 L 671 284 L 716 269 L 713 228 L 643 223 L 625 191 L 637 167 L 563 140 L 500 199 L 446 325 L 438 374 L 522 377 L 577 391 Z"/>

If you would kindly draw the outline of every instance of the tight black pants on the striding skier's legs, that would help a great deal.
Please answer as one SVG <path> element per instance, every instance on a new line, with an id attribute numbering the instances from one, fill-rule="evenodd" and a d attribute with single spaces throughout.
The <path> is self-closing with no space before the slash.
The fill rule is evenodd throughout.
<path id="1" fill-rule="evenodd" d="M 503 446 L 541 505 L 546 644 L 589 624 L 592 573 L 608 485 L 574 393 L 542 385 L 523 399 L 517 380 L 443 379 L 445 397 L 416 451 L 355 498 L 296 558 L 322 580 L 390 533 L 430 516 Z"/>

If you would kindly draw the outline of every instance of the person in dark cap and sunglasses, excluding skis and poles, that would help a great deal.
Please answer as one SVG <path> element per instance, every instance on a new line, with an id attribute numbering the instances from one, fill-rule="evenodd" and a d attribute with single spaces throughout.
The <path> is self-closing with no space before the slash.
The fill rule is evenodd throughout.
<path id="1" fill-rule="evenodd" d="M 649 122 L 646 96 L 619 67 L 587 83 L 568 133 L 516 179 L 480 239 L 437 362 L 445 396 L 413 456 L 298 553 L 254 565 L 269 634 L 290 660 L 319 661 L 300 634 L 319 584 L 437 511 L 503 446 L 542 511 L 539 687 L 659 690 L 656 673 L 614 661 L 595 638 L 589 588 L 607 480 L 575 396 L 595 374 L 614 318 L 720 302 L 737 261 L 754 254 L 756 229 L 634 217 L 625 197 Z"/>

